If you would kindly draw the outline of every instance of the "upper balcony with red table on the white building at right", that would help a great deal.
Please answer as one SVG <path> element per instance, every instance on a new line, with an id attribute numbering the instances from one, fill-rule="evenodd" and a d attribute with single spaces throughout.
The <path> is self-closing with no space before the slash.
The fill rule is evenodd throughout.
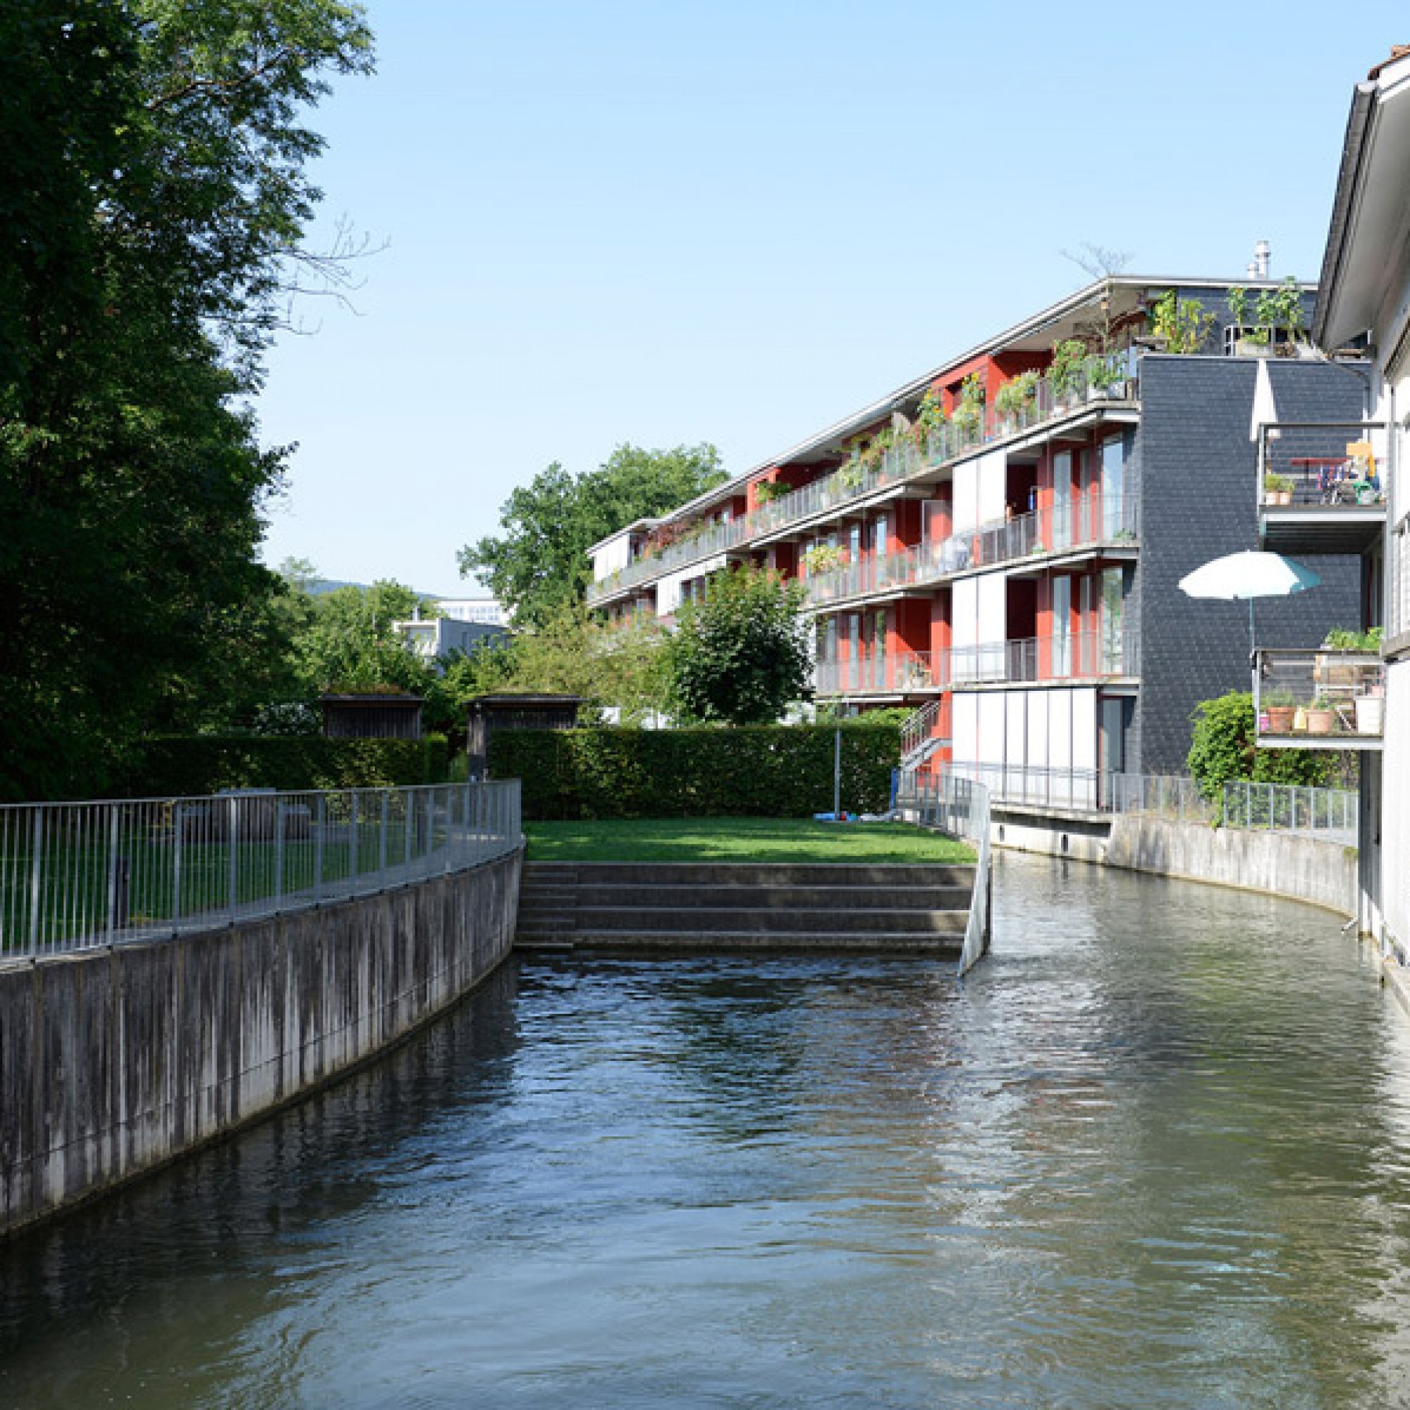
<path id="1" fill-rule="evenodd" d="M 1383 422 L 1259 427 L 1258 526 L 1273 553 L 1365 553 L 1386 523 Z"/>

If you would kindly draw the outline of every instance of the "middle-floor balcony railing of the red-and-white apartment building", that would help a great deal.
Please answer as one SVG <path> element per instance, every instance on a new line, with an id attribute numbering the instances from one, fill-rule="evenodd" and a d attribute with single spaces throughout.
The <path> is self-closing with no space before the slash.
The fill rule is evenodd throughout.
<path id="1" fill-rule="evenodd" d="M 869 554 L 804 580 L 808 602 L 825 606 L 929 585 L 971 568 L 1017 563 L 1045 553 L 1069 553 L 1105 543 L 1135 544 L 1135 495 L 1087 495 L 898 553 Z"/>

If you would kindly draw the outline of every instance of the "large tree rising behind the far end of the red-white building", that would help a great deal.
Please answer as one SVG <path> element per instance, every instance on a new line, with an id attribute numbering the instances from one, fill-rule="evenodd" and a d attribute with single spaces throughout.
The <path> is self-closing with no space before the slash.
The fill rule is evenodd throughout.
<path id="1" fill-rule="evenodd" d="M 719 451 L 706 444 L 619 446 L 606 464 L 577 477 L 554 461 L 501 506 L 498 536 L 461 548 L 460 571 L 477 575 L 517 623 L 541 625 L 584 599 L 594 543 L 725 479 Z"/>

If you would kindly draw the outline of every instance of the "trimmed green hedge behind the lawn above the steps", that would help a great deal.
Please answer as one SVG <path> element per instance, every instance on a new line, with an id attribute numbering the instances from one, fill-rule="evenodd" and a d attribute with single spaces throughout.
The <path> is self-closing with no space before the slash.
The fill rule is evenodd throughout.
<path id="1" fill-rule="evenodd" d="M 526 818 L 809 818 L 832 809 L 832 725 L 502 729 L 494 778 L 523 780 Z M 842 807 L 883 812 L 897 725 L 842 726 Z"/>

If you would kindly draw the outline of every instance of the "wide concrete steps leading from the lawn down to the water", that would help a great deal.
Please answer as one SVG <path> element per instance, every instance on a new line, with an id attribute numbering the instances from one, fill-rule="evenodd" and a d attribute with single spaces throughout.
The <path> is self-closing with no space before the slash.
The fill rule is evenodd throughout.
<path id="1" fill-rule="evenodd" d="M 959 955 L 971 866 L 530 862 L 517 949 Z"/>

